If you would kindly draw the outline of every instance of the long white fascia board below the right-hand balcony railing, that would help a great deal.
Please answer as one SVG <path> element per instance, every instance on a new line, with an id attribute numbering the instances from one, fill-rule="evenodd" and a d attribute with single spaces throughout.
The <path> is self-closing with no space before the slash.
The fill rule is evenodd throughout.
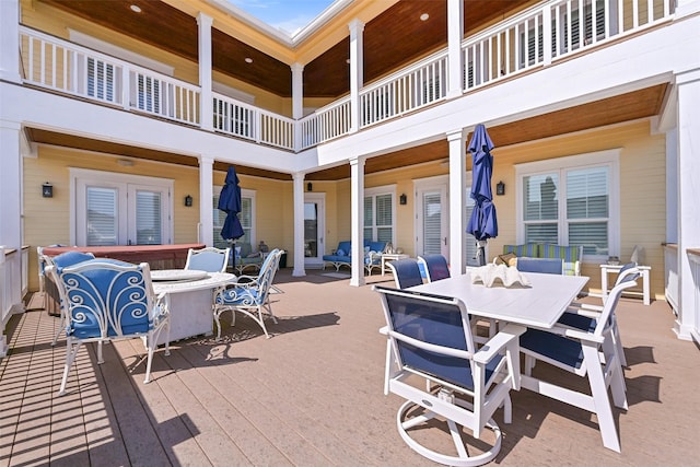
<path id="1" fill-rule="evenodd" d="M 298 170 L 435 141 L 456 127 L 516 121 L 670 83 L 675 73 L 700 68 L 698 44 L 700 16 L 322 144 L 315 161 L 311 154 L 298 160 Z"/>

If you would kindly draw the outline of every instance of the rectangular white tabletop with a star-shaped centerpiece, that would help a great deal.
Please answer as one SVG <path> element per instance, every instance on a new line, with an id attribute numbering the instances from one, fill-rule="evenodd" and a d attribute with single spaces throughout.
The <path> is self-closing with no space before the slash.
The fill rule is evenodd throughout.
<path id="1" fill-rule="evenodd" d="M 476 316 L 518 324 L 527 327 L 551 328 L 588 282 L 585 276 L 559 276 L 522 272 L 529 287 L 486 287 L 472 283 L 471 273 L 411 287 L 408 290 L 454 296 L 464 302 Z"/>

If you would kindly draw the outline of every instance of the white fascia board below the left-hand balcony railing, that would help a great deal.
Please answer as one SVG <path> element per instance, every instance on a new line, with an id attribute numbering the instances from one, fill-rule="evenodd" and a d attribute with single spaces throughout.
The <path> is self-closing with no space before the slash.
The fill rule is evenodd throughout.
<path id="1" fill-rule="evenodd" d="M 0 82 L 0 118 L 61 133 L 293 173 L 294 154 L 156 118 Z"/>

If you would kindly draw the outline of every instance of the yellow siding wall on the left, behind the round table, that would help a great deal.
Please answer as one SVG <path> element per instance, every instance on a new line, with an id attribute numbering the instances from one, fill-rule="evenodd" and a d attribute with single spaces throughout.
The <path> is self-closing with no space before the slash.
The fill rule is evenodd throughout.
<path id="1" fill-rule="evenodd" d="M 149 175 L 173 179 L 173 243 L 197 242 L 199 170 L 175 164 L 135 160 L 131 167 L 117 164 L 117 157 L 88 151 L 39 145 L 37 157 L 24 157 L 24 232 L 30 245 L 30 290 L 38 289 L 36 247 L 70 244 L 70 168 L 86 168 L 121 174 Z M 213 185 L 224 183 L 225 173 L 214 171 Z M 292 184 L 241 175 L 241 187 L 256 191 L 256 235 L 270 247 L 290 252 L 293 259 Z M 50 182 L 54 197 L 42 197 L 42 184 Z M 192 207 L 185 207 L 185 196 Z M 209 201 L 210 202 L 210 201 Z"/>

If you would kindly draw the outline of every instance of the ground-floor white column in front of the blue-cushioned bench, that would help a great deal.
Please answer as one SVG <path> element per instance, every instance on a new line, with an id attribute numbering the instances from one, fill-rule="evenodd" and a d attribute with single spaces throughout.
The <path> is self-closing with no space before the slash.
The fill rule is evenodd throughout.
<path id="1" fill-rule="evenodd" d="M 352 242 L 352 277 L 350 285 L 364 285 L 364 162 L 350 159 L 350 240 Z"/>

